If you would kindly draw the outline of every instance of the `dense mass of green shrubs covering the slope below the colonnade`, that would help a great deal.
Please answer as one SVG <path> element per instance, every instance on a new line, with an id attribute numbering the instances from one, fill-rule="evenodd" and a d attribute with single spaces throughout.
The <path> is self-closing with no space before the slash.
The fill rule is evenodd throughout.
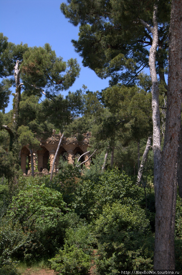
<path id="1" fill-rule="evenodd" d="M 92 168 L 91 168 L 92 169 Z M 152 270 L 154 190 L 117 168 L 81 174 L 63 165 L 49 176 L 20 177 L 13 194 L 0 185 L 0 274 L 17 263 L 46 262 L 60 275 Z M 147 209 L 146 209 L 147 199 Z M 182 267 L 182 203 L 176 207 L 176 266 Z"/>

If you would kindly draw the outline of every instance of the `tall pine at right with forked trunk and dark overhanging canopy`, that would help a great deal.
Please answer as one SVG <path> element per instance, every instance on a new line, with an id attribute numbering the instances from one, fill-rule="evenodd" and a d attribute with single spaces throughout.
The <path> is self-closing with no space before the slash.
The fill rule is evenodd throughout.
<path id="1" fill-rule="evenodd" d="M 157 212 L 154 268 L 156 270 L 175 269 L 175 167 L 182 97 L 180 88 L 182 86 L 181 0 L 173 0 L 172 8 L 169 1 L 163 0 L 147 2 L 137 0 L 82 0 L 77 2 L 72 0 L 68 3 L 68 5 L 61 4 L 61 10 L 72 24 L 80 24 L 79 39 L 73 43 L 76 51 L 83 57 L 85 66 L 95 70 L 102 78 L 111 76 L 111 85 L 118 81 L 131 84 L 136 81 L 140 70 L 147 66 L 150 68 L 153 121 L 152 149 L 154 152 L 154 188 Z M 168 34 L 168 102 L 165 142 L 162 150 L 157 73 L 166 94 L 167 85 L 164 73 L 167 64 Z M 150 46 L 149 52 L 145 46 Z M 172 60 L 175 60 L 175 64 Z M 174 127 L 170 125 L 171 122 L 174 123 Z M 170 156 L 173 158 L 171 163 L 168 162 Z M 170 175 L 165 174 L 165 171 L 170 171 Z M 168 192 L 166 192 L 165 186 L 168 186 Z"/>

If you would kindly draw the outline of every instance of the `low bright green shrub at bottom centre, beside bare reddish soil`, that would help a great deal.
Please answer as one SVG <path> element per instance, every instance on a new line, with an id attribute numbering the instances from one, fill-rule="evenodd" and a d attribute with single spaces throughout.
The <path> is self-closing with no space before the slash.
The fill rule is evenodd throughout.
<path id="1" fill-rule="evenodd" d="M 66 229 L 64 249 L 50 260 L 55 271 L 62 275 L 87 274 L 93 259 L 95 238 L 84 220 Z"/>

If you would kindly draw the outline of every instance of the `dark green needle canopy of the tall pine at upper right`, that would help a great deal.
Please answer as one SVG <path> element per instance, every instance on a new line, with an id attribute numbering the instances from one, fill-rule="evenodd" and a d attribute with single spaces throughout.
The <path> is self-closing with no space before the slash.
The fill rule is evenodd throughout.
<path id="1" fill-rule="evenodd" d="M 69 21 L 80 25 L 79 39 L 72 40 L 83 65 L 93 69 L 100 78 L 111 76 L 110 84 L 133 84 L 138 74 L 148 67 L 152 44 L 153 5 L 155 1 L 82 0 L 67 1 L 60 6 Z M 167 65 L 170 2 L 159 1 L 158 71 Z"/>

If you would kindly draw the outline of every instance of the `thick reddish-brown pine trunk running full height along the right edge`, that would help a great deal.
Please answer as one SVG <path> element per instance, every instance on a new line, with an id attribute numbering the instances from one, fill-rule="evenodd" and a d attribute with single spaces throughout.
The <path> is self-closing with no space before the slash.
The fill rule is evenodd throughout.
<path id="1" fill-rule="evenodd" d="M 166 132 L 155 217 L 155 270 L 175 269 L 176 161 L 182 103 L 182 0 L 173 0 L 169 28 Z"/>

